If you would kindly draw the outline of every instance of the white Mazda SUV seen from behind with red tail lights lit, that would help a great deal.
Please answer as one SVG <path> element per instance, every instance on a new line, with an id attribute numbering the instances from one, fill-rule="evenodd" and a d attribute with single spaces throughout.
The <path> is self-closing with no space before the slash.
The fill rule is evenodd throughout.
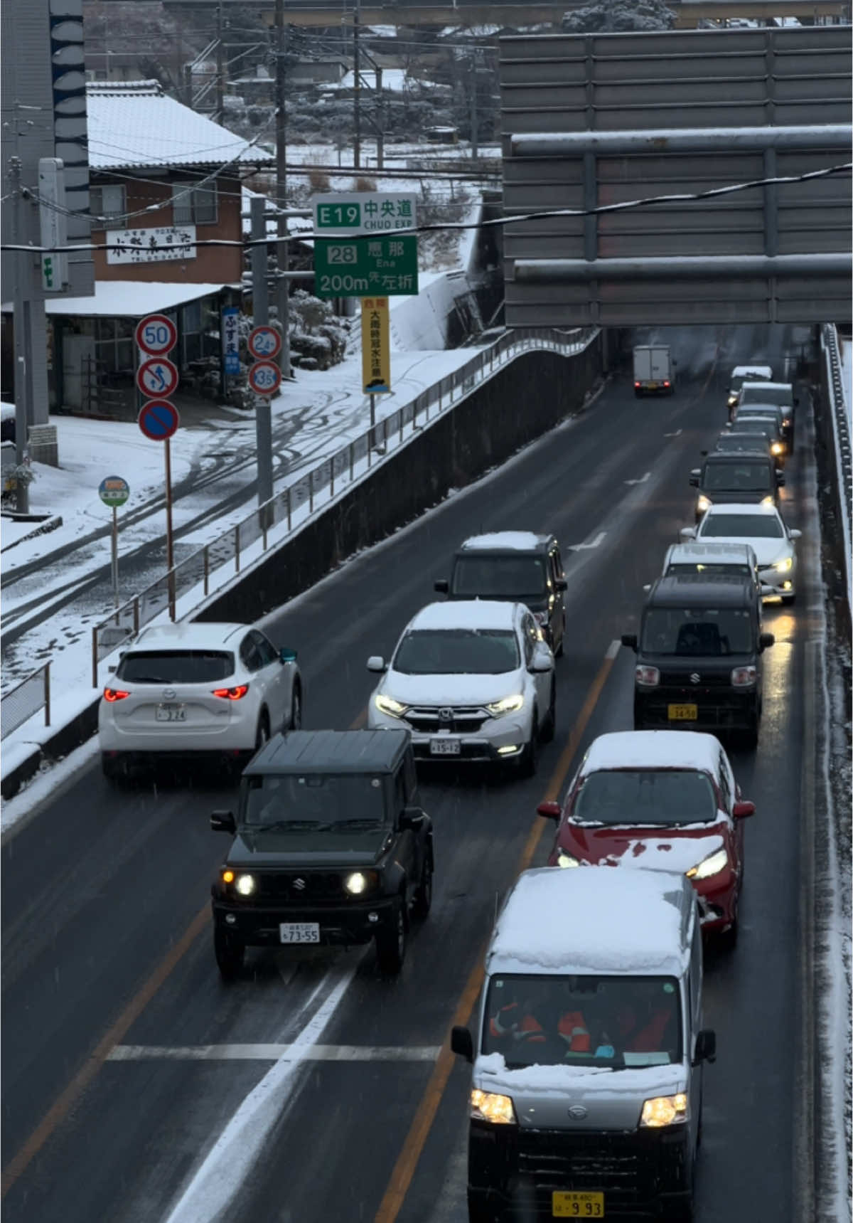
<path id="1" fill-rule="evenodd" d="M 246 761 L 271 734 L 301 725 L 296 652 L 247 624 L 143 629 L 98 708 L 104 775 L 116 779 L 132 763 L 207 752 Z"/>

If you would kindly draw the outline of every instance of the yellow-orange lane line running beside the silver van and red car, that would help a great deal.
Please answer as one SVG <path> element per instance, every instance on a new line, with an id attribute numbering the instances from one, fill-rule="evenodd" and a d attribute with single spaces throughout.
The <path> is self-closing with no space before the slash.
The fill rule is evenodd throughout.
<path id="1" fill-rule="evenodd" d="M 607 654 L 599 668 L 599 673 L 593 680 L 591 687 L 587 693 L 587 700 L 574 719 L 574 725 L 572 726 L 572 731 L 566 741 L 566 746 L 560 753 L 557 767 L 547 783 L 547 789 L 545 790 L 543 800 L 545 802 L 552 802 L 557 797 L 560 789 L 566 780 L 566 774 L 568 773 L 572 759 L 578 750 L 583 734 L 587 729 L 587 724 L 593 714 L 593 709 L 601 696 L 601 689 L 607 681 L 615 658 L 616 651 L 607 651 Z M 524 843 L 524 849 L 522 850 L 522 856 L 518 862 L 518 873 L 527 871 L 533 861 L 533 855 L 539 845 L 544 824 L 545 822 L 541 816 L 536 816 L 527 841 Z M 483 961 L 485 959 L 485 951 L 486 948 L 483 947 L 477 956 L 477 963 L 470 971 L 453 1013 L 453 1018 L 450 1022 L 451 1027 L 463 1026 L 470 1019 L 470 1013 L 474 1009 L 477 996 L 483 986 Z M 418 1104 L 418 1110 L 414 1114 L 414 1120 L 412 1121 L 409 1131 L 406 1135 L 402 1151 L 400 1152 L 397 1162 L 394 1166 L 391 1179 L 389 1180 L 383 1200 L 379 1203 L 374 1223 L 395 1223 L 395 1219 L 400 1213 L 403 1201 L 406 1200 L 406 1194 L 412 1184 L 412 1178 L 414 1177 L 418 1167 L 418 1161 L 420 1159 L 426 1139 L 429 1137 L 429 1132 L 433 1128 L 433 1121 L 435 1120 L 435 1114 L 439 1110 L 439 1104 L 441 1103 L 445 1088 L 447 1087 L 447 1080 L 450 1079 L 455 1060 L 455 1054 L 450 1051 L 448 1040 L 445 1038 L 441 1046 L 441 1052 L 439 1053 L 435 1066 L 433 1068 L 433 1073 L 429 1077 L 429 1082 L 426 1084 L 420 1103 Z"/>

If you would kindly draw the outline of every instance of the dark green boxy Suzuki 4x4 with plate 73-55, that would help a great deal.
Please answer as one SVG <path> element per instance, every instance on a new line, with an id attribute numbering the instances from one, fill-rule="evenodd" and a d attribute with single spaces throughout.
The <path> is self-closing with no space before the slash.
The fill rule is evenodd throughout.
<path id="1" fill-rule="evenodd" d="M 417 806 L 407 730 L 295 730 L 243 770 L 233 840 L 211 887 L 224 978 L 247 947 L 356 945 L 375 939 L 400 971 L 409 920 L 433 899 L 433 822 Z"/>

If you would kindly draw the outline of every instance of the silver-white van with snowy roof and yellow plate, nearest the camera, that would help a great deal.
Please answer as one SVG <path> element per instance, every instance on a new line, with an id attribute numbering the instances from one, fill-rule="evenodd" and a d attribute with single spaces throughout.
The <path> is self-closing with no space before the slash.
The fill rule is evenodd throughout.
<path id="1" fill-rule="evenodd" d="M 681 873 L 524 871 L 485 960 L 468 1218 L 693 1217 L 703 1068 L 697 895 Z M 512 1213 L 512 1212 L 516 1213 Z"/>

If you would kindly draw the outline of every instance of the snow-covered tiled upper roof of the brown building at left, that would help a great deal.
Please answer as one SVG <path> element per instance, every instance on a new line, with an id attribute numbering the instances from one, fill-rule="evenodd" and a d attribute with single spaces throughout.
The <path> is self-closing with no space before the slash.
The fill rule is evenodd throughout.
<path id="1" fill-rule="evenodd" d="M 167 97 L 156 81 L 86 87 L 90 170 L 271 164 L 270 153 Z"/>

